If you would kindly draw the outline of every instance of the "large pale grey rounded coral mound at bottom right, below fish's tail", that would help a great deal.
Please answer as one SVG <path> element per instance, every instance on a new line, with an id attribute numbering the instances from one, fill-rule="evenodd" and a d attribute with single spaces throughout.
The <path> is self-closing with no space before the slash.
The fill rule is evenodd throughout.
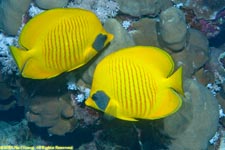
<path id="1" fill-rule="evenodd" d="M 164 129 L 174 138 L 170 149 L 207 149 L 217 131 L 219 107 L 216 98 L 198 82 L 184 82 L 185 97 L 180 110 L 164 119 Z"/>

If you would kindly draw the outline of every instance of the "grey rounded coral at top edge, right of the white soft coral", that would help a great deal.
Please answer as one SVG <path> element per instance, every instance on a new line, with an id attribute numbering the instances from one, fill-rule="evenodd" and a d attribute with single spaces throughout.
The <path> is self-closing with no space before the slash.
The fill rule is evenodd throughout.
<path id="1" fill-rule="evenodd" d="M 120 11 L 131 16 L 151 15 L 156 16 L 165 7 L 171 6 L 169 1 L 165 0 L 116 0 L 119 3 Z"/>

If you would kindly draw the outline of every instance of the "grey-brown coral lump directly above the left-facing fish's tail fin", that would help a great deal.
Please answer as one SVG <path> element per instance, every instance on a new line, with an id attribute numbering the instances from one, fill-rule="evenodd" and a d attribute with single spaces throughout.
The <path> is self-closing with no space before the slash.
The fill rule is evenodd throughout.
<path id="1" fill-rule="evenodd" d="M 185 77 L 191 77 L 203 67 L 209 59 L 207 38 L 198 30 L 189 29 L 189 39 L 185 48 L 177 53 L 172 53 L 177 66 L 183 66 Z"/>

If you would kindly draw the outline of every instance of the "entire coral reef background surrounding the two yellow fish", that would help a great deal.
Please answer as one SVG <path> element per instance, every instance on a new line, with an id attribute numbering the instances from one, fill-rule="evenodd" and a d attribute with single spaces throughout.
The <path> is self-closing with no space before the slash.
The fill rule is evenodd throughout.
<path id="1" fill-rule="evenodd" d="M 48 136 L 48 139 L 72 139 L 70 144 L 76 145 L 75 148 L 80 150 L 207 149 L 210 144 L 214 149 L 224 147 L 225 119 L 224 113 L 219 118 L 218 111 L 223 112 L 225 109 L 225 47 L 209 47 L 209 40 L 224 30 L 224 1 L 32 2 L 26 0 L 17 4 L 13 0 L 0 1 L 0 30 L 5 33 L 0 33 L 1 112 L 10 112 L 19 105 L 25 108 L 25 117 L 29 124 L 53 135 Z M 17 37 L 7 35 L 16 35 L 22 23 L 45 9 L 55 7 L 93 11 L 104 24 L 104 28 L 114 35 L 114 40 L 80 70 L 65 73 L 52 80 L 23 79 L 19 76 L 8 49 L 9 45 L 17 43 Z M 98 62 L 120 48 L 134 45 L 151 45 L 165 49 L 174 58 L 175 68 L 183 66 L 183 106 L 164 120 L 124 122 L 84 106 Z M 46 145 L 46 142 L 35 137 L 33 131 L 29 130 L 26 120 L 14 125 L 1 125 L 1 144 Z M 218 123 L 220 126 L 216 132 Z M 82 131 L 88 135 L 83 135 Z M 71 138 L 74 133 L 77 133 L 76 140 Z M 213 135 L 217 138 L 212 138 Z M 65 141 L 59 143 L 68 144 Z"/>

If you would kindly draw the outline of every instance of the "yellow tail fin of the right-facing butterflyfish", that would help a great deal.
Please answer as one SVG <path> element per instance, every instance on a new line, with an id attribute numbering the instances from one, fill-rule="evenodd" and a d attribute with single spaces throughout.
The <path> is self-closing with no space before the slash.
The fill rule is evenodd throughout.
<path id="1" fill-rule="evenodd" d="M 19 49 L 14 46 L 10 46 L 10 52 L 11 52 L 14 60 L 16 61 L 16 64 L 17 64 L 19 70 L 22 71 L 23 66 L 28 58 L 28 54 L 27 54 L 28 51 Z"/>

